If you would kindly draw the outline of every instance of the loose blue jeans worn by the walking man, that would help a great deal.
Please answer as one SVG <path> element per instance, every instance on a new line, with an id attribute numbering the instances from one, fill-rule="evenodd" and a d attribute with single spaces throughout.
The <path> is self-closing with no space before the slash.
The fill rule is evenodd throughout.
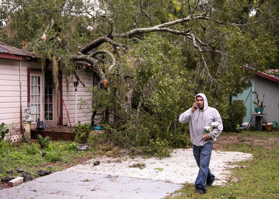
<path id="1" fill-rule="evenodd" d="M 197 165 L 200 168 L 198 171 L 198 177 L 195 181 L 196 189 L 204 189 L 206 191 L 205 183 L 212 182 L 215 179 L 215 176 L 209 169 L 212 146 L 213 142 L 207 142 L 201 147 L 193 145 L 193 154 Z"/>

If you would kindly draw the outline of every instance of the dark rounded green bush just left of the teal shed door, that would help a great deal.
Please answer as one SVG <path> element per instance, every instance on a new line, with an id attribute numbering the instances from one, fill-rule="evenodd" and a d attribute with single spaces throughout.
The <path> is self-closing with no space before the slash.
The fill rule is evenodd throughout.
<path id="1" fill-rule="evenodd" d="M 242 122 L 242 119 L 246 115 L 246 107 L 238 102 L 232 101 L 232 104 L 228 106 L 227 115 L 228 118 L 224 119 L 223 122 L 223 131 L 236 131 L 236 126 L 239 122 Z"/>

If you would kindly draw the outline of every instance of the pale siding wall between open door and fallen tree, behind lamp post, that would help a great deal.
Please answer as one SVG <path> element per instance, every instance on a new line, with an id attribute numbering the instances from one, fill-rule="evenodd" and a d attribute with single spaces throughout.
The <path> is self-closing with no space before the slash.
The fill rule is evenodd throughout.
<path id="1" fill-rule="evenodd" d="M 85 86 L 87 87 L 93 87 L 93 72 L 78 72 L 78 77 L 81 79 L 81 81 L 85 84 Z M 75 76 L 72 75 L 71 78 L 73 78 L 73 81 L 76 80 Z M 71 123 L 74 124 L 74 120 L 75 120 L 75 88 L 73 83 L 69 83 L 69 102 L 68 102 L 68 107 L 67 109 L 69 110 L 69 117 L 70 117 L 70 121 Z M 67 105 L 67 87 L 66 87 L 66 80 L 65 80 L 65 76 L 63 75 L 63 94 L 62 94 L 62 98 L 65 101 L 65 104 Z M 78 89 L 77 89 L 77 103 L 79 102 L 79 99 L 90 99 L 91 96 L 88 93 L 85 93 L 84 88 L 81 84 L 78 85 Z M 83 109 L 83 111 L 87 111 L 87 109 Z M 84 112 L 82 112 L 82 110 L 80 110 L 77 107 L 77 120 L 80 121 L 82 124 L 85 122 L 91 122 L 91 115 L 92 113 L 88 113 L 86 115 L 84 115 Z M 65 107 L 63 105 L 63 125 L 67 124 L 68 118 L 67 118 L 67 114 L 66 114 L 66 110 Z"/>

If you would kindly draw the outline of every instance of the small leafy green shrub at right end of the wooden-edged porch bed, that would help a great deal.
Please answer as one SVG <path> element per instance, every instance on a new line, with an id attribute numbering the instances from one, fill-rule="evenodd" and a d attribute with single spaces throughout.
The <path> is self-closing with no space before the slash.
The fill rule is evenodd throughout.
<path id="1" fill-rule="evenodd" d="M 91 124 L 77 124 L 74 128 L 74 133 L 76 133 L 75 142 L 85 144 L 88 140 L 89 133 L 91 131 Z"/>

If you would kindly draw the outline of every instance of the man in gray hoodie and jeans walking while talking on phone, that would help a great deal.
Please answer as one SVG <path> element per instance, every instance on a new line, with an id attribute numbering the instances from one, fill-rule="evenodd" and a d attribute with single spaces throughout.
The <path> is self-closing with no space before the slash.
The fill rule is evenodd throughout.
<path id="1" fill-rule="evenodd" d="M 223 124 L 219 112 L 208 106 L 205 94 L 199 93 L 195 97 L 196 102 L 192 108 L 179 116 L 180 123 L 189 122 L 191 142 L 193 144 L 193 154 L 196 163 L 200 168 L 195 181 L 195 194 L 204 194 L 205 187 L 210 187 L 215 176 L 210 172 L 209 162 L 212 152 L 213 142 L 223 130 Z M 205 126 L 211 126 L 212 122 L 219 122 L 219 126 L 210 133 L 204 133 Z M 205 138 L 203 138 L 205 135 Z"/>

